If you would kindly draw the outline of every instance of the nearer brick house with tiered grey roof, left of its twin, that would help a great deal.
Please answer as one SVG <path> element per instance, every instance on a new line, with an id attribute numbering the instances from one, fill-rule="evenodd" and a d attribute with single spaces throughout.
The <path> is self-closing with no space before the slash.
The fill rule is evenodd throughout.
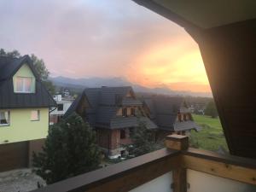
<path id="1" fill-rule="evenodd" d="M 122 145 L 131 143 L 130 135 L 139 121 L 149 130 L 157 128 L 130 86 L 85 89 L 65 116 L 73 112 L 96 129 L 98 144 L 110 157 L 125 153 Z"/>

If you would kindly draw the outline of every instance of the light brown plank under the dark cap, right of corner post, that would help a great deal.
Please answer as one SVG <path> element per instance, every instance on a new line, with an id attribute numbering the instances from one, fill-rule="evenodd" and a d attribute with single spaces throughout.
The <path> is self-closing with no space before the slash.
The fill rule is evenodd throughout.
<path id="1" fill-rule="evenodd" d="M 206 172 L 218 177 L 230 178 L 239 182 L 256 185 L 255 168 L 237 166 L 190 155 L 183 155 L 182 161 L 183 168 Z"/>

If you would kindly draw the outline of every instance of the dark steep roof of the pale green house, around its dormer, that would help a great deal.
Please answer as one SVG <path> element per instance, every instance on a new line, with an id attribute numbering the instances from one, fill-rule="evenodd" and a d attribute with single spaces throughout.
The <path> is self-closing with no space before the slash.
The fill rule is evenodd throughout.
<path id="1" fill-rule="evenodd" d="M 13 76 L 23 64 L 31 68 L 36 78 L 35 93 L 14 92 Z M 55 105 L 54 99 L 38 78 L 28 55 L 20 58 L 0 56 L 0 108 L 49 108 Z"/>

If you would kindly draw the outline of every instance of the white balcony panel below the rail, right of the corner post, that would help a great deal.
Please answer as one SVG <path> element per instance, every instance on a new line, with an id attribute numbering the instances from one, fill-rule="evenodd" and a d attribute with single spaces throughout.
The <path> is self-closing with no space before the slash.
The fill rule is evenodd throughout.
<path id="1" fill-rule="evenodd" d="M 234 180 L 188 170 L 188 192 L 256 192 L 256 186 Z"/>

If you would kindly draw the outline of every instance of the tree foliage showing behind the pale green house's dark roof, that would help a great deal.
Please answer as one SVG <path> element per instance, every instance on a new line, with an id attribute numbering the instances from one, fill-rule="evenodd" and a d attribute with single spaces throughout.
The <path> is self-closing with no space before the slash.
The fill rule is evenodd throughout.
<path id="1" fill-rule="evenodd" d="M 0 49 L 0 56 L 10 56 L 10 57 L 17 57 L 19 58 L 21 55 L 18 50 L 13 50 L 13 51 L 5 51 L 4 49 Z M 46 87 L 47 90 L 49 90 L 49 93 L 51 95 L 55 94 L 55 86 L 52 84 L 51 81 L 49 81 L 49 71 L 45 66 L 44 60 L 43 59 L 38 59 L 38 57 L 34 54 L 31 55 L 32 59 L 32 64 L 35 67 L 39 78 L 42 80 L 44 86 Z"/>

